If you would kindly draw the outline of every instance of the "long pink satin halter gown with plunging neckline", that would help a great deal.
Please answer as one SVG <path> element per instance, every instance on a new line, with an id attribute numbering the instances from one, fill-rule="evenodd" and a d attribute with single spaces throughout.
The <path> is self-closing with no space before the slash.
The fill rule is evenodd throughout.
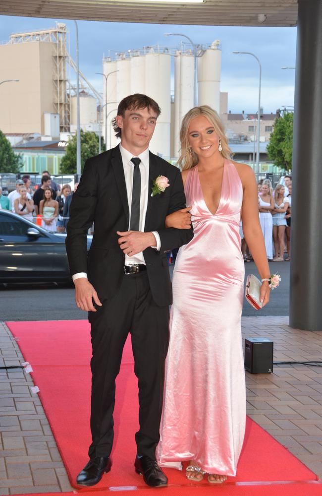
<path id="1" fill-rule="evenodd" d="M 180 248 L 173 272 L 157 459 L 161 464 L 194 460 L 208 473 L 234 476 L 246 421 L 243 188 L 235 166 L 225 160 L 215 215 L 205 203 L 197 166 L 187 175 L 185 194 L 194 238 Z"/>

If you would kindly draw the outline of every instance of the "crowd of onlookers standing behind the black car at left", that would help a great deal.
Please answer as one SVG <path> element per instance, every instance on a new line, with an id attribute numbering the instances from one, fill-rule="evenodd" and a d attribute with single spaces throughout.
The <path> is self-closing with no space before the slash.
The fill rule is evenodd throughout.
<path id="1" fill-rule="evenodd" d="M 71 196 L 71 186 L 59 186 L 48 171 L 43 171 L 41 183 L 34 187 L 30 176 L 26 174 L 17 179 L 16 188 L 7 196 L 2 194 L 0 186 L 0 209 L 11 210 L 31 222 L 40 216 L 43 229 L 63 233 L 68 223 Z"/>

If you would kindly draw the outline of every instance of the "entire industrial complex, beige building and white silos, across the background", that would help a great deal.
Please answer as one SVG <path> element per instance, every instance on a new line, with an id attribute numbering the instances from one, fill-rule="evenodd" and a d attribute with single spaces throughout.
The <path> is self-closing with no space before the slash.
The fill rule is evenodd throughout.
<path id="1" fill-rule="evenodd" d="M 75 77 L 76 63 L 68 50 L 68 31 L 63 23 L 56 23 L 49 30 L 18 33 L 0 45 L 0 63 L 3 79 L 17 79 L 1 86 L 0 129 L 10 136 L 16 151 L 23 156 L 23 172 L 51 170 L 59 173 L 63 148 L 56 149 L 57 157 L 46 155 L 43 143 L 38 150 L 27 149 L 30 134 L 36 141 L 68 141 L 76 132 L 76 88 L 70 82 L 70 71 Z M 171 64 L 171 58 L 174 63 Z M 84 131 L 94 131 L 105 137 L 107 148 L 118 140 L 111 121 L 118 103 L 132 93 L 145 93 L 161 107 L 151 151 L 173 163 L 179 155 L 179 130 L 183 116 L 195 105 L 195 63 L 197 65 L 198 105 L 210 105 L 220 115 L 226 128 L 231 147 L 254 141 L 257 115 L 231 114 L 228 94 L 220 93 L 221 47 L 219 40 L 211 45 L 187 43 L 179 46 L 150 46 L 109 53 L 103 59 L 103 95 L 80 71 L 80 125 Z M 173 69 L 172 69 L 173 67 Z M 171 87 L 171 70 L 174 70 Z M 267 142 L 275 119 L 273 114 L 261 114 L 261 141 Z M 21 135 L 21 141 L 17 136 Z M 54 144 L 54 143 L 53 143 Z M 245 146 L 244 146 L 245 148 Z M 38 156 L 42 150 L 42 156 Z M 241 159 L 252 162 L 253 145 L 248 143 Z M 261 160 L 267 156 L 261 154 Z M 33 155 L 31 155 L 31 153 Z M 55 146 L 50 153 L 55 153 Z M 236 149 L 236 159 L 238 151 Z M 38 170 L 39 169 L 39 170 Z"/>

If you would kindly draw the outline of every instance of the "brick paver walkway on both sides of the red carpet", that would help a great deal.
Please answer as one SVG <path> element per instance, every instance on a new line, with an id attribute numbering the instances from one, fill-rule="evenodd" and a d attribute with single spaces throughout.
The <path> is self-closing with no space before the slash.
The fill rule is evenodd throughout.
<path id="1" fill-rule="evenodd" d="M 243 317 L 243 337 L 268 337 L 274 361 L 322 361 L 322 332 L 288 327 L 288 317 Z M 0 366 L 22 357 L 0 323 Z M 32 364 L 31 364 L 32 365 Z M 0 494 L 72 491 L 31 377 L 0 371 Z M 322 478 L 322 368 L 275 366 L 246 373 L 247 413 Z"/>

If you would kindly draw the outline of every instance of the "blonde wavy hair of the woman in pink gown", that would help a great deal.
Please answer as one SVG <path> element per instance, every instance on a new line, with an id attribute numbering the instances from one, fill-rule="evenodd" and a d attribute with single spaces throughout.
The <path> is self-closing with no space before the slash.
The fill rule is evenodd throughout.
<path id="1" fill-rule="evenodd" d="M 221 138 L 222 150 L 220 154 L 227 159 L 230 159 L 233 155 L 233 152 L 228 146 L 228 141 L 225 136 L 223 124 L 220 121 L 220 118 L 216 111 L 209 107 L 209 105 L 194 107 L 193 109 L 189 110 L 189 112 L 187 112 L 187 114 L 184 116 L 180 129 L 181 154 L 177 164 L 182 171 L 191 169 L 196 164 L 198 164 L 198 156 L 193 150 L 191 150 L 189 145 L 188 129 L 191 121 L 199 116 L 205 116 L 210 124 L 214 126 L 216 134 L 219 136 L 219 138 Z"/>

